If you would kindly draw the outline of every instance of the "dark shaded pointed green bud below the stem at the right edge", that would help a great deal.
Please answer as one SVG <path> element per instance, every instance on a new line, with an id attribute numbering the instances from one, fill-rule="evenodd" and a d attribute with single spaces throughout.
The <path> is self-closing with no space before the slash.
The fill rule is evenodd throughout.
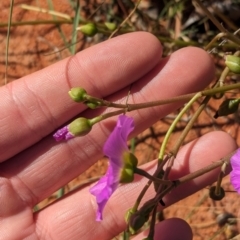
<path id="1" fill-rule="evenodd" d="M 239 103 L 240 98 L 224 100 L 219 106 L 216 114 L 214 115 L 214 118 L 218 118 L 220 116 L 227 116 L 229 114 L 235 113 L 238 110 Z"/>

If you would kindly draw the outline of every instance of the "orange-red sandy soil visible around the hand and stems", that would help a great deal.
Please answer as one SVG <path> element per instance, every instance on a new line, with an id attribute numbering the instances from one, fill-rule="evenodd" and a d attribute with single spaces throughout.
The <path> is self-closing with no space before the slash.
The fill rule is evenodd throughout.
<path id="1" fill-rule="evenodd" d="M 47 1 L 39 1 L 42 8 L 47 8 Z M 68 2 L 64 0 L 53 1 L 56 11 L 69 14 L 73 16 Z M 15 7 L 13 10 L 13 22 L 16 21 L 30 21 L 30 20 L 40 20 L 40 19 L 52 19 L 48 14 L 38 13 L 34 11 L 26 11 L 21 9 L 20 4 L 31 4 L 36 6 L 36 1 L 21 1 L 15 0 Z M 2 0 L 0 3 L 0 22 L 8 21 L 9 14 L 9 0 Z M 71 39 L 71 25 L 62 26 L 63 31 L 67 36 L 67 40 Z M 5 75 L 5 49 L 6 49 L 6 34 L 7 28 L 0 28 L 0 84 L 4 85 L 4 75 Z M 82 37 L 81 33 L 78 34 L 78 38 Z M 94 40 L 91 40 L 94 41 Z M 91 43 L 91 42 L 90 42 Z M 70 56 L 68 50 L 63 50 L 56 54 L 51 54 L 45 56 L 46 53 L 52 52 L 54 50 L 60 49 L 63 46 L 63 41 L 60 37 L 59 31 L 54 25 L 25 25 L 17 26 L 11 28 L 11 38 L 9 45 L 9 60 L 8 60 L 8 74 L 7 82 L 14 81 L 22 76 L 35 72 L 37 70 L 43 69 L 62 58 Z M 88 42 L 81 42 L 77 44 L 77 50 L 88 47 Z M 214 115 L 214 106 L 219 101 L 212 101 L 211 108 L 209 107 L 205 112 L 203 112 L 201 118 L 195 124 L 194 129 L 190 132 L 187 141 L 195 139 L 196 137 L 216 129 L 222 129 L 233 137 L 238 139 L 238 122 L 239 116 L 234 115 L 232 118 L 223 118 L 215 120 L 212 116 Z M 185 116 L 187 118 L 191 116 Z M 161 123 L 157 123 L 150 129 L 146 130 L 143 134 L 139 135 L 137 138 L 137 148 L 136 154 L 140 161 L 143 163 L 146 159 L 153 159 L 156 157 L 159 142 L 162 141 L 162 136 L 166 132 L 166 129 L 171 123 L 171 117 L 174 114 L 168 116 L 166 119 L 162 120 Z M 234 123 L 235 121 L 235 123 Z M 185 122 L 181 122 L 178 125 L 178 131 L 174 134 L 172 141 L 178 138 L 182 127 Z M 153 138 L 153 131 L 157 137 Z M 149 148 L 149 145 L 152 148 Z M 86 173 L 74 179 L 65 187 L 65 191 L 68 192 L 83 184 L 86 180 L 100 176 L 104 174 L 106 169 L 106 161 L 101 160 L 94 166 L 92 166 Z M 225 178 L 223 181 L 223 187 L 226 190 L 232 190 L 229 184 L 229 178 Z M 219 202 L 214 202 L 208 196 L 208 190 L 203 189 L 196 194 L 184 199 L 175 205 L 164 210 L 164 217 L 179 217 L 183 218 L 189 222 L 192 226 L 194 233 L 194 240 L 200 239 L 210 239 L 214 236 L 217 231 L 220 231 L 216 238 L 219 240 L 230 239 L 231 236 L 238 233 L 237 225 L 218 224 L 217 219 L 222 218 L 225 213 L 233 214 L 236 218 L 238 217 L 239 208 L 239 197 L 235 192 L 227 192 L 226 197 Z M 56 194 L 49 197 L 45 201 L 39 204 L 40 207 L 48 204 L 56 198 Z"/>

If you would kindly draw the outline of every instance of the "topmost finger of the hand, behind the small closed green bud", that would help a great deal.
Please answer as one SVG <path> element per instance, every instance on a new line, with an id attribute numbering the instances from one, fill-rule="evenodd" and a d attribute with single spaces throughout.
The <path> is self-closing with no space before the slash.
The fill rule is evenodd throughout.
<path id="1" fill-rule="evenodd" d="M 149 33 L 133 35 L 103 42 L 1 87 L 0 162 L 84 110 L 69 98 L 71 87 L 81 86 L 94 96 L 106 97 L 151 70 L 161 57 L 161 44 Z M 144 41 L 151 47 L 145 48 Z"/>

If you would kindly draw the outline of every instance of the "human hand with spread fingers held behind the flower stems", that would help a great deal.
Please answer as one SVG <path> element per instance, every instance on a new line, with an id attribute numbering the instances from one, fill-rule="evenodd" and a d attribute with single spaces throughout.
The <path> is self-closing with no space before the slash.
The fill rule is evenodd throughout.
<path id="1" fill-rule="evenodd" d="M 84 137 L 55 142 L 52 133 L 74 116 L 90 118 L 103 111 L 76 105 L 67 94 L 70 88 L 81 86 L 93 96 L 124 103 L 133 84 L 128 102 L 137 103 L 196 92 L 212 80 L 213 63 L 203 50 L 184 48 L 166 59 L 161 59 L 161 52 L 152 35 L 126 34 L 0 88 L 0 240 L 105 240 L 124 230 L 124 214 L 145 179 L 120 186 L 107 203 L 102 222 L 95 221 L 97 206 L 89 187 L 37 213 L 32 209 L 95 163 L 113 129 L 113 121 L 108 119 Z M 136 125 L 132 136 L 180 106 L 176 103 L 128 113 Z M 171 177 L 196 171 L 235 148 L 224 132 L 206 134 L 180 150 Z M 154 167 L 153 162 L 143 166 L 150 172 Z M 217 171 L 212 171 L 187 183 L 187 188 L 178 187 L 164 199 L 166 206 L 212 183 L 216 175 Z M 153 196 L 150 189 L 145 199 Z M 177 239 L 176 234 L 191 239 L 190 228 L 182 220 L 170 219 L 156 226 L 156 239 Z"/>

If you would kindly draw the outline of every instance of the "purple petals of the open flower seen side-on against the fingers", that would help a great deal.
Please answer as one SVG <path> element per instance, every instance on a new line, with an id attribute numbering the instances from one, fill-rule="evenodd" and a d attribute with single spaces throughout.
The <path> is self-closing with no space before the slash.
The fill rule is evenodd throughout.
<path id="1" fill-rule="evenodd" d="M 109 167 L 106 174 L 90 189 L 98 204 L 97 221 L 102 220 L 103 209 L 119 184 L 123 154 L 128 151 L 127 138 L 133 129 L 133 118 L 119 116 L 116 127 L 104 145 L 103 152 L 109 158 Z"/>

